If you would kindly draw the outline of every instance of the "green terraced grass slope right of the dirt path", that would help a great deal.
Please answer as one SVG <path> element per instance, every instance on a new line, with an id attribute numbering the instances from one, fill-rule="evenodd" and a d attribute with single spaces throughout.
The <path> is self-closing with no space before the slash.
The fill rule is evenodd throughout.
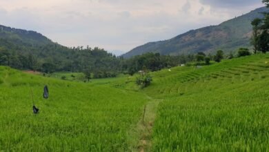
<path id="1" fill-rule="evenodd" d="M 154 74 L 153 151 L 268 151 L 269 56 Z"/>

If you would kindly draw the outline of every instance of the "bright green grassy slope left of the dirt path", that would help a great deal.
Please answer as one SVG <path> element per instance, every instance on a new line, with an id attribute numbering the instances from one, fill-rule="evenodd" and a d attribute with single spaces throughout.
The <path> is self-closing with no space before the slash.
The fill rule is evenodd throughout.
<path id="1" fill-rule="evenodd" d="M 0 67 L 0 151 L 128 151 L 147 99 Z M 30 84 L 40 113 L 32 113 Z M 48 84 L 50 98 L 42 99 Z"/>

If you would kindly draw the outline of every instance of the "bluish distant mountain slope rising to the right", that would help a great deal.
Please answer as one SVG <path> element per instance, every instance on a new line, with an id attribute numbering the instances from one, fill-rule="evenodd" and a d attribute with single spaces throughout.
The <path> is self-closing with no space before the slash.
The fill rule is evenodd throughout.
<path id="1" fill-rule="evenodd" d="M 261 12 L 268 8 L 258 8 L 241 17 L 235 17 L 218 26 L 208 26 L 197 30 L 190 30 L 166 41 L 156 41 L 138 46 L 123 55 L 132 57 L 143 53 L 161 53 L 161 55 L 194 54 L 197 52 L 215 53 L 222 49 L 226 53 L 235 51 L 239 47 L 251 48 L 251 21 L 257 17 L 263 18 Z"/>

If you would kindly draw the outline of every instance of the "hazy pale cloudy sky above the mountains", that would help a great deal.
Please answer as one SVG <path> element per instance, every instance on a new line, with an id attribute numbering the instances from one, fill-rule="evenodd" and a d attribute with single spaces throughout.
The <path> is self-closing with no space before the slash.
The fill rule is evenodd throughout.
<path id="1" fill-rule="evenodd" d="M 261 0 L 0 0 L 0 24 L 64 46 L 128 51 L 261 6 Z"/>

